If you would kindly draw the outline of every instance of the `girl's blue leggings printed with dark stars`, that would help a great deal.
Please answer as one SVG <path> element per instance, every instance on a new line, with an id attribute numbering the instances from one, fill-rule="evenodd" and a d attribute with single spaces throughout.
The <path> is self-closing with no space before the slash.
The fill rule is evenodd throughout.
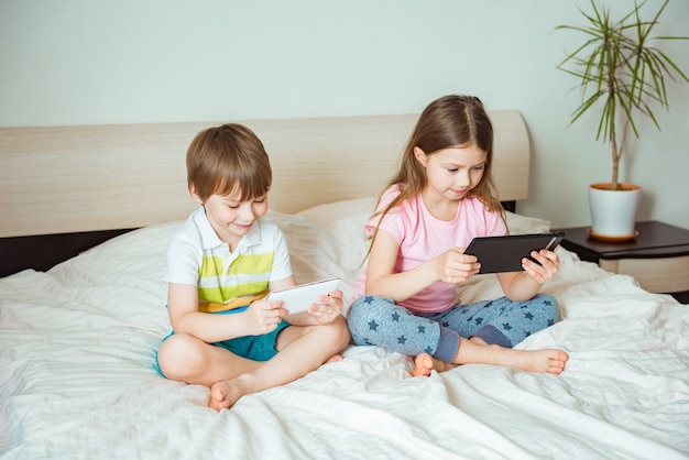
<path id="1" fill-rule="evenodd" d="M 427 352 L 445 362 L 455 359 L 460 336 L 512 348 L 559 319 L 557 300 L 549 294 L 527 302 L 500 297 L 433 314 L 412 314 L 391 298 L 363 295 L 347 315 L 358 346 L 382 346 L 411 357 Z"/>

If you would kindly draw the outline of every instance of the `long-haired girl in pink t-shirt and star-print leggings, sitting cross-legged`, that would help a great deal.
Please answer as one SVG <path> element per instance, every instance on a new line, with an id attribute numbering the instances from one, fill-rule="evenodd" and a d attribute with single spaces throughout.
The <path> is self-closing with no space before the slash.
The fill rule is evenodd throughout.
<path id="1" fill-rule="evenodd" d="M 352 339 L 415 357 L 413 375 L 464 363 L 559 374 L 569 358 L 512 349 L 559 319 L 555 298 L 537 294 L 558 270 L 553 251 L 532 253 L 540 265 L 524 259 L 524 272 L 496 274 L 505 297 L 457 304 L 457 283 L 480 269 L 464 248 L 474 237 L 507 233 L 492 157 L 493 129 L 481 101 L 435 100 L 367 224 L 369 263 L 348 314 Z"/>

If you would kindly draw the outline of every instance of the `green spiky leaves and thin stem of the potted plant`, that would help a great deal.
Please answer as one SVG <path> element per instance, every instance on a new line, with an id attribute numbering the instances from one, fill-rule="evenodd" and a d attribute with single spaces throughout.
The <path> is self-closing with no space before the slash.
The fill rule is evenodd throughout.
<path id="1" fill-rule="evenodd" d="M 628 127 L 638 139 L 637 116 L 653 120 L 658 130 L 652 105 L 668 109 L 666 80 L 677 81 L 679 77 L 689 83 L 687 76 L 654 42 L 667 40 L 689 40 L 686 36 L 652 36 L 653 29 L 669 0 L 666 0 L 652 20 L 641 18 L 641 4 L 634 2 L 631 12 L 613 22 L 610 10 L 600 8 L 591 0 L 592 14 L 580 9 L 588 20 L 588 26 L 559 25 L 556 30 L 581 32 L 586 42 L 562 61 L 558 68 L 578 77 L 581 90 L 581 105 L 572 112 L 570 122 L 579 120 L 595 108 L 600 121 L 595 140 L 610 142 L 612 149 L 612 189 L 620 189 L 620 158 Z M 679 19 L 680 21 L 683 21 Z M 678 76 L 678 78 L 676 78 Z M 622 130 L 619 130 L 622 122 Z"/>

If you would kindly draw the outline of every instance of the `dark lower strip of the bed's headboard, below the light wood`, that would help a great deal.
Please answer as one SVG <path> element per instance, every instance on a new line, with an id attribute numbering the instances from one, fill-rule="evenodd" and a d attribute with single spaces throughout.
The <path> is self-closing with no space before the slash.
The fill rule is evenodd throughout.
<path id="1" fill-rule="evenodd" d="M 516 201 L 502 201 L 502 206 L 515 212 Z M 89 248 L 132 230 L 134 229 L 0 238 L 0 277 L 26 269 L 45 272 Z"/>

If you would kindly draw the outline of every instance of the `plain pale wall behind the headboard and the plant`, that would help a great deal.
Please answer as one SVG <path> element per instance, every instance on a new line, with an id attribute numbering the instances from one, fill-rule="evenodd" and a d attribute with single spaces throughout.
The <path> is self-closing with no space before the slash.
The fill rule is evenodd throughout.
<path id="1" fill-rule="evenodd" d="M 528 125 L 518 211 L 584 226 L 587 186 L 609 180 L 611 162 L 594 121 L 568 125 L 576 81 L 556 69 L 578 37 L 554 28 L 583 24 L 578 6 L 588 1 L 0 0 L 0 125 L 419 112 L 473 94 Z M 674 0 L 659 32 L 689 35 L 687 18 L 689 1 Z M 664 50 L 689 75 L 689 43 Z M 644 187 L 638 220 L 689 228 L 689 85 L 669 92 L 663 132 L 646 127 L 622 178 Z"/>

